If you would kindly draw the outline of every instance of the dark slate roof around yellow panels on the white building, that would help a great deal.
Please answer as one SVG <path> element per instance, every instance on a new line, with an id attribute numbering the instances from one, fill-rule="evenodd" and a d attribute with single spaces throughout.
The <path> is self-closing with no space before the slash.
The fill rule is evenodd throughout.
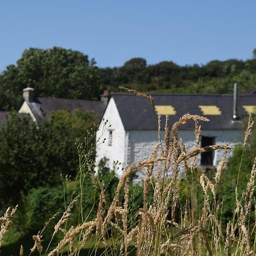
<path id="1" fill-rule="evenodd" d="M 203 115 L 199 105 L 215 105 L 220 109 L 220 115 L 203 115 L 210 122 L 201 122 L 204 130 L 239 129 L 241 122 L 233 121 L 233 95 L 225 94 L 151 94 L 155 105 L 171 105 L 175 115 L 170 115 L 170 125 L 178 121 L 186 113 Z M 118 112 L 126 130 L 155 130 L 157 129 L 156 113 L 150 101 L 134 94 L 112 94 Z M 247 115 L 243 105 L 256 105 L 256 95 L 238 96 L 238 115 Z M 162 117 L 164 125 L 165 117 Z M 190 121 L 181 129 L 194 129 L 195 123 Z M 163 129 L 163 126 L 162 126 Z"/>

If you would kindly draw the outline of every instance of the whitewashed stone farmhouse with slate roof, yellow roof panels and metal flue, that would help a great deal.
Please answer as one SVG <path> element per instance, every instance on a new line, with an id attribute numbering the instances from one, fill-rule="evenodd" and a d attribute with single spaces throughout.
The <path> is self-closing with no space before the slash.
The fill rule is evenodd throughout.
<path id="1" fill-rule="evenodd" d="M 108 106 L 97 132 L 97 139 L 101 139 L 96 146 L 96 164 L 106 158 L 109 168 L 113 168 L 114 161 L 117 160 L 125 168 L 131 163 L 148 158 L 158 142 L 156 114 L 163 115 L 163 125 L 165 115 L 170 115 L 170 126 L 186 113 L 207 117 L 210 122 L 200 123 L 201 146 L 234 146 L 242 141 L 242 118 L 256 109 L 256 94 L 238 97 L 236 94 L 152 94 L 152 97 L 155 109 L 148 99 L 134 94 L 109 96 Z M 185 142 L 187 150 L 193 147 L 195 141 L 194 127 L 195 123 L 191 121 L 179 131 L 179 137 Z M 103 135 L 102 131 L 105 131 Z M 101 143 L 104 138 L 105 143 Z M 222 151 L 204 153 L 199 158 L 199 164 L 216 167 L 222 154 Z M 121 172 L 119 171 L 119 175 Z"/>

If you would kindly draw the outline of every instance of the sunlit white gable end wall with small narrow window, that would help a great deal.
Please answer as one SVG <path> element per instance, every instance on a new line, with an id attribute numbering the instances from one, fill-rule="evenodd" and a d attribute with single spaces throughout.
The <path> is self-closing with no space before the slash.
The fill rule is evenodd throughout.
<path id="1" fill-rule="evenodd" d="M 129 133 L 123 127 L 120 115 L 115 105 L 114 99 L 111 98 L 104 113 L 104 121 L 100 123 L 99 130 L 96 134 L 96 165 L 101 159 L 107 158 L 106 165 L 113 170 L 114 161 L 121 163 L 118 165 L 117 174 L 121 175 L 122 168 L 127 165 L 127 142 Z M 106 125 L 105 121 L 108 119 Z M 111 125 L 111 127 L 109 127 Z M 112 143 L 110 144 L 110 131 L 112 131 Z M 105 142 L 102 143 L 105 139 Z M 97 167 L 96 167 L 97 170 Z"/>

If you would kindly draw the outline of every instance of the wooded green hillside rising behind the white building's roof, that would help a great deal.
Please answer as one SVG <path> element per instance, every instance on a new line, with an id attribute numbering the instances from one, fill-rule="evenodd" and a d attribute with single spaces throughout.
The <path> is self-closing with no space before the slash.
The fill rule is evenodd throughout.
<path id="1" fill-rule="evenodd" d="M 101 82 L 110 90 L 124 85 L 143 92 L 232 93 L 238 82 L 240 92 L 256 86 L 256 59 L 213 60 L 205 65 L 181 67 L 172 61 L 147 65 L 134 58 L 119 68 L 101 69 Z"/>

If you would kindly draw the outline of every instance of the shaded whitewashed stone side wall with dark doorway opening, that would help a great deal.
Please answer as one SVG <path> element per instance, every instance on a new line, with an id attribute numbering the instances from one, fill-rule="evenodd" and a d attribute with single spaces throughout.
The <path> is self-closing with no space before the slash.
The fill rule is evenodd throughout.
<path id="1" fill-rule="evenodd" d="M 215 144 L 229 144 L 235 146 L 236 143 L 242 141 L 243 133 L 238 130 L 205 130 L 201 132 L 202 136 L 214 137 Z M 162 132 L 162 138 L 164 134 Z M 195 144 L 195 133 L 190 130 L 180 130 L 179 138 L 182 138 L 186 150 L 192 149 Z M 158 132 L 147 130 L 130 130 L 129 143 L 128 143 L 128 159 L 127 163 L 138 163 L 141 160 L 147 159 L 154 146 L 158 143 Z M 217 167 L 224 154 L 223 150 L 217 150 L 213 153 L 213 165 Z M 232 151 L 228 152 L 228 157 L 232 155 Z M 200 155 L 199 155 L 200 164 Z M 181 166 L 182 169 L 182 166 Z M 182 170 L 181 170 L 182 171 Z M 144 171 L 137 172 L 137 178 L 134 179 L 135 183 L 143 179 Z"/>

